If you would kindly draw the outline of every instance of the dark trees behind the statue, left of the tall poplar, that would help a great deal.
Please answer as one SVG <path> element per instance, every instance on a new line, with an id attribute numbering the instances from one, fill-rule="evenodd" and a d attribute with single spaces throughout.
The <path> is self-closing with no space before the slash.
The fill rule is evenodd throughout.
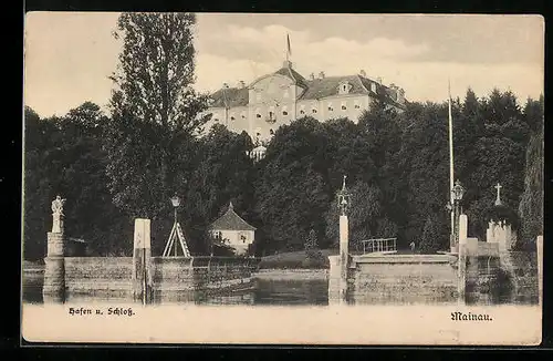
<path id="1" fill-rule="evenodd" d="M 100 106 L 85 102 L 62 117 L 39 118 L 25 110 L 24 257 L 45 256 L 52 226 L 50 203 L 65 204 L 65 234 L 83 238 L 93 255 L 132 249 L 124 219 L 107 189 L 103 134 L 107 124 Z M 127 240 L 127 243 L 125 243 Z"/>

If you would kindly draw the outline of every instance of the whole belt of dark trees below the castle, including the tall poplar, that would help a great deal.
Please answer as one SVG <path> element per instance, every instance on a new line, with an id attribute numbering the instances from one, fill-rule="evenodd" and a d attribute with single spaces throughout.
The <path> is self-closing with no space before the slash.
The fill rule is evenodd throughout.
<path id="1" fill-rule="evenodd" d="M 194 14 L 126 13 L 109 114 L 90 102 L 61 117 L 25 109 L 24 257 L 45 255 L 50 204 L 60 194 L 66 234 L 93 255 L 131 255 L 133 221 L 152 219 L 159 255 L 173 223 L 169 198 L 192 254 L 209 251 L 206 228 L 229 202 L 253 226 L 255 251 L 337 243 L 335 193 L 347 176 L 353 247 L 372 237 L 415 241 L 425 251 L 449 243 L 447 103 L 409 103 L 398 114 L 382 100 L 358 120 L 304 117 L 281 126 L 261 162 L 248 134 L 215 126 L 199 136 L 207 94 L 194 83 Z M 511 92 L 452 102 L 456 178 L 467 188 L 469 233 L 483 238 L 487 212 L 518 209 L 521 245 L 542 233 L 543 97 L 522 107 Z"/>

